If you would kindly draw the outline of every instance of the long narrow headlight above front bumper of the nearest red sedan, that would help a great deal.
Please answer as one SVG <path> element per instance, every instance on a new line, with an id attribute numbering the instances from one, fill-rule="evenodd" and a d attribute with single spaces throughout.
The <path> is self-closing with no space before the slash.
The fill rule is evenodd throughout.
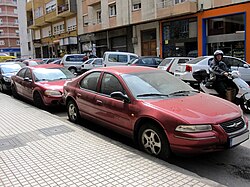
<path id="1" fill-rule="evenodd" d="M 175 129 L 178 132 L 206 132 L 211 130 L 212 125 L 179 125 Z"/>

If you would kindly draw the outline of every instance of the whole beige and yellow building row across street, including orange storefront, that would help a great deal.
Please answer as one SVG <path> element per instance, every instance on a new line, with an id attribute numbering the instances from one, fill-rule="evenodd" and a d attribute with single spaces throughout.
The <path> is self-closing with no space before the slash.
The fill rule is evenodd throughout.
<path id="1" fill-rule="evenodd" d="M 111 50 L 164 58 L 222 49 L 250 61 L 249 7 L 249 0 L 30 0 L 26 11 L 36 56 Z"/>

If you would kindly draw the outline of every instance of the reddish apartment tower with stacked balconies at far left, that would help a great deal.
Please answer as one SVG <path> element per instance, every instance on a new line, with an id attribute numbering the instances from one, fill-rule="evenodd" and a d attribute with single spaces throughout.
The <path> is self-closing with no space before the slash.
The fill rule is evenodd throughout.
<path id="1" fill-rule="evenodd" d="M 0 53 L 20 56 L 17 0 L 0 0 Z"/>

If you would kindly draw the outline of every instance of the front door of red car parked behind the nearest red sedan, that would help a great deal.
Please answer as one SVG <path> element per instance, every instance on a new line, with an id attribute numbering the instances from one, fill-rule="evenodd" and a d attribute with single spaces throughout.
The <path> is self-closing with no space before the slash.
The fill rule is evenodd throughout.
<path id="1" fill-rule="evenodd" d="M 23 86 L 23 96 L 32 100 L 34 82 L 33 82 L 33 78 L 32 78 L 32 72 L 29 68 L 27 68 L 27 70 L 24 74 L 22 86 Z"/>

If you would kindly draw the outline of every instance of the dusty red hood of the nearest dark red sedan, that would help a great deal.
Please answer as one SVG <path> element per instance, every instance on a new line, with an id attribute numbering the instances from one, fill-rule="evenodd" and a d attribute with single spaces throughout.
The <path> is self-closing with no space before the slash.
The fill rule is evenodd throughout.
<path id="1" fill-rule="evenodd" d="M 151 108 L 193 124 L 220 123 L 241 115 L 237 105 L 204 93 L 165 100 L 144 100 L 144 102 Z"/>

